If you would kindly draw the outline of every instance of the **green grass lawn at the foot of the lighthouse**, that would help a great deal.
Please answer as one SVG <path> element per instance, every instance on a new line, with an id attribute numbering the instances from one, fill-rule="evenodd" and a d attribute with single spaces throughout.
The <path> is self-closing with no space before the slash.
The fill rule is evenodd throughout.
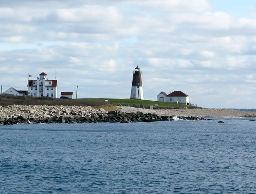
<path id="1" fill-rule="evenodd" d="M 114 103 L 114 104 L 122 104 L 122 106 L 125 106 L 128 104 L 129 106 L 132 106 L 135 104 L 137 107 L 142 104 L 144 107 L 149 107 L 150 105 L 158 104 L 159 107 L 177 107 L 177 103 L 175 102 L 158 102 L 158 101 L 150 101 L 150 100 L 138 100 L 138 99 L 118 99 L 118 98 L 80 98 L 79 101 L 86 100 L 86 101 L 103 101 L 107 100 L 108 102 Z M 178 107 L 190 107 L 187 106 L 185 103 L 179 103 Z"/>

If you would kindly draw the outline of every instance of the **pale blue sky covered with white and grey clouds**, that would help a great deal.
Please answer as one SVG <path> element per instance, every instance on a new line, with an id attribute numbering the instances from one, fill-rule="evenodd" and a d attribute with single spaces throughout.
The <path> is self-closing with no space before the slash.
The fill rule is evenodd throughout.
<path id="1" fill-rule="evenodd" d="M 78 98 L 144 98 L 182 91 L 205 108 L 256 108 L 252 0 L 0 0 L 0 85 L 28 74 Z"/>

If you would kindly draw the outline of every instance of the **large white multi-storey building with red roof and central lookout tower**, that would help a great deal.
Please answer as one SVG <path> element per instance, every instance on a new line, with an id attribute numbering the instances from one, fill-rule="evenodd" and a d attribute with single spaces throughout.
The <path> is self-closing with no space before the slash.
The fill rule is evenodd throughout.
<path id="1" fill-rule="evenodd" d="M 28 96 L 57 98 L 57 80 L 48 80 L 42 72 L 36 80 L 28 80 Z"/>

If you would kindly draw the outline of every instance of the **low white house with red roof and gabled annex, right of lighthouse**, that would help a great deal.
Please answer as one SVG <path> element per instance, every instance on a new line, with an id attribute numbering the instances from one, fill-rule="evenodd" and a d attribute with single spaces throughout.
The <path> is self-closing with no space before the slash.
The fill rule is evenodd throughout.
<path id="1" fill-rule="evenodd" d="M 181 91 L 171 92 L 167 95 L 165 92 L 160 92 L 158 97 L 158 102 L 179 102 L 179 103 L 189 103 L 189 96 Z"/>

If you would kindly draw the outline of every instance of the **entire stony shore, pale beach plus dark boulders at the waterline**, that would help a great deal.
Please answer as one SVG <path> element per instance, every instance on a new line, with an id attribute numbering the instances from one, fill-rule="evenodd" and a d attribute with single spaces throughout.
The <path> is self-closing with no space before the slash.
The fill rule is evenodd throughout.
<path id="1" fill-rule="evenodd" d="M 0 124 L 17 123 L 96 123 L 96 122 L 155 122 L 173 120 L 204 120 L 203 117 L 256 117 L 256 112 L 233 109 L 160 109 L 149 110 L 118 107 L 117 111 L 89 106 L 0 106 Z"/>

